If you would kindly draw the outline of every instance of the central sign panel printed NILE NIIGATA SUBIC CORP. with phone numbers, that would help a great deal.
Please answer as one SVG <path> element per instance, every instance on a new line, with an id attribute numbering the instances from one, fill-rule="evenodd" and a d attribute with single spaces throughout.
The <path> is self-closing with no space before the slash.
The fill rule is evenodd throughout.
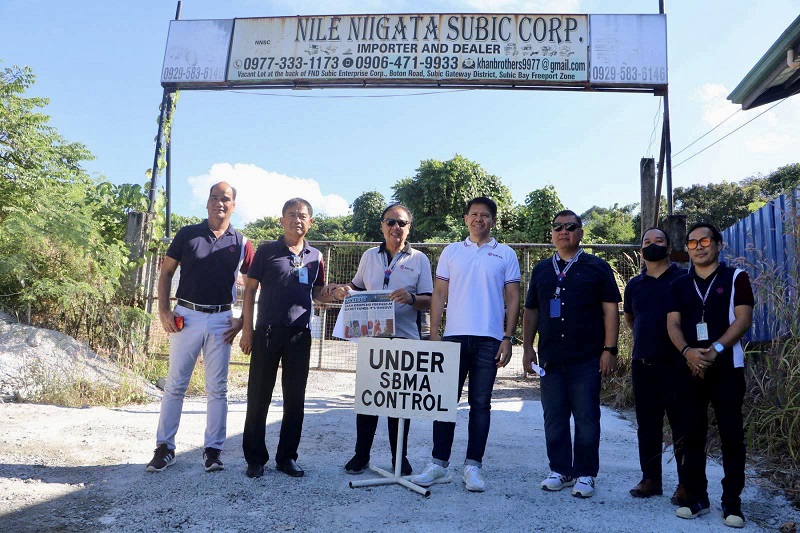
<path id="1" fill-rule="evenodd" d="M 236 19 L 228 80 L 587 80 L 586 15 L 332 15 Z"/>

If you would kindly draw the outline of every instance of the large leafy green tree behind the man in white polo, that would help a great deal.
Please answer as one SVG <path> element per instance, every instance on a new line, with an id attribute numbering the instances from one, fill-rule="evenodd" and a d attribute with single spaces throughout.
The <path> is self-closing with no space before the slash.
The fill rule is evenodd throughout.
<path id="1" fill-rule="evenodd" d="M 413 178 L 401 179 L 392 189 L 394 200 L 414 213 L 414 233 L 420 241 L 463 238 L 467 233 L 464 208 L 476 196 L 488 196 L 497 203 L 501 226 L 513 205 L 511 192 L 500 178 L 458 154 L 444 162 L 422 161 Z"/>

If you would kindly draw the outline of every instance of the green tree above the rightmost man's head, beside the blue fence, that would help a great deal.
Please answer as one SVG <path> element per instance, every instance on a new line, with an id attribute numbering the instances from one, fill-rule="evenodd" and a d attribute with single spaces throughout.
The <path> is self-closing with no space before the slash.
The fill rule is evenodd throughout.
<path id="1" fill-rule="evenodd" d="M 752 183 L 739 185 L 723 181 L 678 187 L 673 197 L 675 212 L 687 215 L 687 225 L 706 220 L 720 229 L 732 226 L 764 205 L 761 190 Z"/>

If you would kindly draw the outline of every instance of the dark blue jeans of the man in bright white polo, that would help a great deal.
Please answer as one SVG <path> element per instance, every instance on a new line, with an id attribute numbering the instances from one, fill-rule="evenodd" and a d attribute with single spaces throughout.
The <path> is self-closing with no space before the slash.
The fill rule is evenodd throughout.
<path id="1" fill-rule="evenodd" d="M 465 464 L 481 466 L 486 441 L 489 438 L 491 421 L 492 388 L 497 376 L 497 350 L 500 341 L 491 337 L 475 337 L 472 335 L 454 335 L 442 340 L 461 344 L 461 360 L 458 367 L 458 398 L 464 381 L 469 375 L 469 440 L 467 443 L 467 460 Z M 447 466 L 450 462 L 450 451 L 453 447 L 455 422 L 433 423 L 433 462 Z"/>

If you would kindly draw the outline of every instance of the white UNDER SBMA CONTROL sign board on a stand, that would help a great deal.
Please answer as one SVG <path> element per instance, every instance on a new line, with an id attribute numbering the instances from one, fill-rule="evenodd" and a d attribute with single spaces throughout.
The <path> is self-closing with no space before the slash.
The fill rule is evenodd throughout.
<path id="1" fill-rule="evenodd" d="M 359 339 L 355 411 L 455 422 L 459 361 L 455 342 Z"/>

